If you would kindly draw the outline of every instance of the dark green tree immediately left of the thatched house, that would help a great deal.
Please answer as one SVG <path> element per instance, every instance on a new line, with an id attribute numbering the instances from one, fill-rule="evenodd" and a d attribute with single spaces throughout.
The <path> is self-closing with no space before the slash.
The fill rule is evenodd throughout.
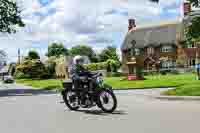
<path id="1" fill-rule="evenodd" d="M 103 49 L 103 51 L 99 54 L 99 60 L 101 62 L 105 62 L 109 59 L 119 62 L 119 58 L 115 47 L 108 46 L 107 48 Z"/>

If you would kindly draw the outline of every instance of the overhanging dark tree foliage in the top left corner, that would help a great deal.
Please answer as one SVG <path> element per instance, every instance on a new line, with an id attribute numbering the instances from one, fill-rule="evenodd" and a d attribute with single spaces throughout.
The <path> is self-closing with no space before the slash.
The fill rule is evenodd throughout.
<path id="1" fill-rule="evenodd" d="M 17 3 L 13 0 L 0 0 L 0 32 L 15 33 L 16 26 L 25 26 Z"/>

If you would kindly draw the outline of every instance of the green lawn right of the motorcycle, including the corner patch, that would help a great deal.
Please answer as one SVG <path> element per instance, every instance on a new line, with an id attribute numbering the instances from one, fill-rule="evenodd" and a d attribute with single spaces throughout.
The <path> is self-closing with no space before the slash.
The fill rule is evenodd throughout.
<path id="1" fill-rule="evenodd" d="M 122 78 L 107 78 L 106 82 L 114 88 L 157 88 L 175 87 L 176 89 L 164 92 L 165 95 L 200 96 L 200 81 L 195 74 L 146 76 L 144 81 L 120 81 Z"/>

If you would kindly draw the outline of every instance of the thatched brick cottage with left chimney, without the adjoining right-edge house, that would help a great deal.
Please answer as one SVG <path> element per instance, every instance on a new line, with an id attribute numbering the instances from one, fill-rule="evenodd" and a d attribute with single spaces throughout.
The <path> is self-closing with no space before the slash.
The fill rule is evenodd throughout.
<path id="1" fill-rule="evenodd" d="M 183 36 L 181 27 L 180 22 L 136 27 L 130 19 L 129 31 L 121 47 L 122 71 L 133 74 L 136 66 L 147 71 L 175 68 L 177 47 Z"/>

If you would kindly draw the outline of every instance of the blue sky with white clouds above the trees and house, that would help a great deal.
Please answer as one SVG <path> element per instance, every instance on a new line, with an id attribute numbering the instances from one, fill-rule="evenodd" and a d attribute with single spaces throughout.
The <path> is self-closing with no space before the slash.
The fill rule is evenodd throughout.
<path id="1" fill-rule="evenodd" d="M 26 55 L 36 50 L 45 58 L 52 42 L 65 47 L 86 44 L 100 52 L 120 46 L 128 30 L 128 19 L 136 25 L 174 21 L 182 17 L 183 0 L 17 0 L 26 26 L 16 34 L 0 33 L 0 49 L 16 61 L 18 49 Z"/>

